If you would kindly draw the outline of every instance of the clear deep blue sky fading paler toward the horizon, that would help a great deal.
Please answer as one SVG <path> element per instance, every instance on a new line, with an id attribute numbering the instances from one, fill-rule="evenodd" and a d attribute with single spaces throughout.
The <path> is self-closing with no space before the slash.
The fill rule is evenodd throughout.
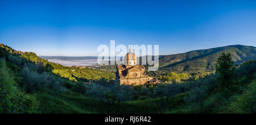
<path id="1" fill-rule="evenodd" d="M 0 42 L 16 50 L 97 56 L 110 40 L 158 44 L 160 55 L 256 46 L 256 1 L 0 1 Z"/>

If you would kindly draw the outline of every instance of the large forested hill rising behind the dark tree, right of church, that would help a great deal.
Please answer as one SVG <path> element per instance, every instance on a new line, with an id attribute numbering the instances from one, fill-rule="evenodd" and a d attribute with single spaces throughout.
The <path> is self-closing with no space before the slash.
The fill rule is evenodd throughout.
<path id="1" fill-rule="evenodd" d="M 214 63 L 222 52 L 230 53 L 234 64 L 241 64 L 243 61 L 256 59 L 256 47 L 246 45 L 229 45 L 225 47 L 189 51 L 176 55 L 159 56 L 160 68 L 155 73 L 211 72 L 214 70 Z"/>

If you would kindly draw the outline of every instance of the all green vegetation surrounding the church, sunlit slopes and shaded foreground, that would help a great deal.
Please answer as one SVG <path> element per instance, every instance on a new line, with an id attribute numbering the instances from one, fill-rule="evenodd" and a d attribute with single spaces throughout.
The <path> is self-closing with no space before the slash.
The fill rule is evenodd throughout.
<path id="1" fill-rule="evenodd" d="M 160 84 L 120 85 L 113 73 L 67 67 L 0 47 L 0 113 L 255 113 L 256 61 L 217 57 L 216 73 L 168 72 Z M 93 80 L 93 81 L 89 81 Z"/>

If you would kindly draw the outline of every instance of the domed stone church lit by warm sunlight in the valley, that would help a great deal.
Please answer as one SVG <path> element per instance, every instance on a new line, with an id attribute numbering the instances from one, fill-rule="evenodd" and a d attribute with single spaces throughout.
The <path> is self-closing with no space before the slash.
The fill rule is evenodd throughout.
<path id="1" fill-rule="evenodd" d="M 125 56 L 125 65 L 117 65 L 116 78 L 121 85 L 142 85 L 147 82 L 156 84 L 160 82 L 156 78 L 147 76 L 143 65 L 137 65 L 137 57 L 131 48 Z"/>

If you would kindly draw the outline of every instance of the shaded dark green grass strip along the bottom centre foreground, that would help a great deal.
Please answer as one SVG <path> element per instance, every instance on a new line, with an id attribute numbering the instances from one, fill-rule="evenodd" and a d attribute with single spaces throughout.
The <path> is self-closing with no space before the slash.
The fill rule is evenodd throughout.
<path id="1" fill-rule="evenodd" d="M 184 103 L 183 97 L 186 93 L 170 97 L 168 102 L 165 98 L 146 99 L 141 101 L 126 101 L 121 105 L 115 103 L 109 107 L 96 99 L 84 95 L 67 91 L 65 93 L 53 93 L 52 91 L 43 91 L 38 93 L 42 113 L 135 113 L 151 114 L 163 113 L 163 111 L 172 109 L 180 103 Z"/>

